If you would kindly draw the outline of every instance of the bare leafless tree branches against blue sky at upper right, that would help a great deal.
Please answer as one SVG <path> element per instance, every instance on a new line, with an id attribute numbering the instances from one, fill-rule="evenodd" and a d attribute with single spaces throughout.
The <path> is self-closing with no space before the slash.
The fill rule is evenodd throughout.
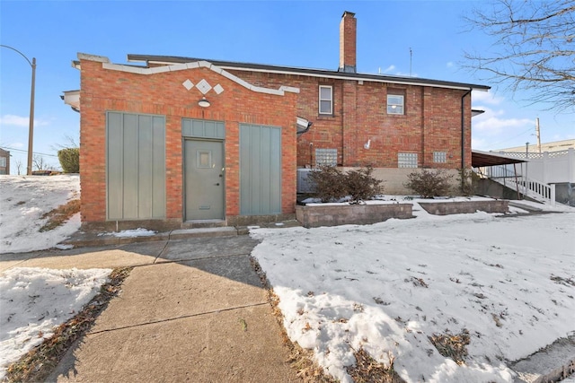
<path id="1" fill-rule="evenodd" d="M 575 110 L 575 0 L 496 0 L 466 17 L 493 39 L 490 49 L 465 53 L 468 67 L 509 90 L 528 91 L 548 109 Z"/>

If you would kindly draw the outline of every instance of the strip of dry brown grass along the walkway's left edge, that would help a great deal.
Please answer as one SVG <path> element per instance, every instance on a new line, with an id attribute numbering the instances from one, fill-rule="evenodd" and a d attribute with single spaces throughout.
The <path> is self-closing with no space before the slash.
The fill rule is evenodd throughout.
<path id="1" fill-rule="evenodd" d="M 121 284 L 131 270 L 131 267 L 114 269 L 110 274 L 110 282 L 102 285 L 100 292 L 84 306 L 82 311 L 66 323 L 57 326 L 54 335 L 23 355 L 19 361 L 14 361 L 8 366 L 4 381 L 38 382 L 46 379 L 62 360 L 68 348 L 90 330 L 98 315 L 108 306 L 108 302 L 118 295 Z"/>

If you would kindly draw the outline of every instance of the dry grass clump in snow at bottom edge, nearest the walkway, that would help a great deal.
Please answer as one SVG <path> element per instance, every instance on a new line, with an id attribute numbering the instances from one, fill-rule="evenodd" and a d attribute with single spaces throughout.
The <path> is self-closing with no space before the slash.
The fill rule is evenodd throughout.
<path id="1" fill-rule="evenodd" d="M 353 355 L 356 357 L 356 365 L 346 367 L 348 374 L 354 382 L 357 383 L 404 383 L 397 372 L 394 370 L 394 356 L 389 353 L 389 365 L 385 366 L 372 358 L 363 347 L 355 351 Z"/>

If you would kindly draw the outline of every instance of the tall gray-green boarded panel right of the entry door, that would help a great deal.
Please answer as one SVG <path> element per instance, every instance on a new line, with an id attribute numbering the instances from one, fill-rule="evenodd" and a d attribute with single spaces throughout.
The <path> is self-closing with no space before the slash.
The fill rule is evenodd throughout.
<path id="1" fill-rule="evenodd" d="M 281 213 L 281 128 L 240 125 L 240 214 Z"/>

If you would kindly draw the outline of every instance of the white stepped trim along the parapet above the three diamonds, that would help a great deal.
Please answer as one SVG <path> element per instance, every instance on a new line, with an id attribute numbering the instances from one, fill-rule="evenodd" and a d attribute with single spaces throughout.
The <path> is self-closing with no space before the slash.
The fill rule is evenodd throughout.
<path id="1" fill-rule="evenodd" d="M 102 56 L 95 56 L 95 55 L 88 55 L 85 53 L 78 53 L 78 59 L 81 60 L 88 60 L 88 61 L 96 61 L 102 63 L 102 68 L 108 69 L 111 71 L 120 71 L 120 72 L 128 72 L 131 74 L 159 74 L 164 72 L 176 72 L 182 71 L 186 69 L 195 69 L 195 68 L 208 68 L 211 71 L 216 72 L 217 74 L 221 74 L 227 79 L 233 81 L 234 83 L 238 83 L 242 85 L 244 88 L 249 89 L 250 91 L 256 91 L 258 93 L 266 93 L 266 94 L 273 94 L 276 96 L 283 96 L 287 91 L 290 93 L 299 93 L 299 88 L 294 88 L 293 86 L 280 86 L 279 89 L 270 89 L 270 88 L 263 88 L 261 86 L 255 86 L 251 83 L 248 83 L 235 74 L 231 74 L 224 70 L 222 67 L 213 65 L 208 61 L 196 61 L 192 63 L 184 63 L 184 64 L 173 64 L 173 65 L 165 65 L 165 66 L 155 66 L 151 68 L 146 68 L 143 66 L 132 66 L 132 65 L 121 65 L 121 64 L 112 64 L 108 57 Z"/>

